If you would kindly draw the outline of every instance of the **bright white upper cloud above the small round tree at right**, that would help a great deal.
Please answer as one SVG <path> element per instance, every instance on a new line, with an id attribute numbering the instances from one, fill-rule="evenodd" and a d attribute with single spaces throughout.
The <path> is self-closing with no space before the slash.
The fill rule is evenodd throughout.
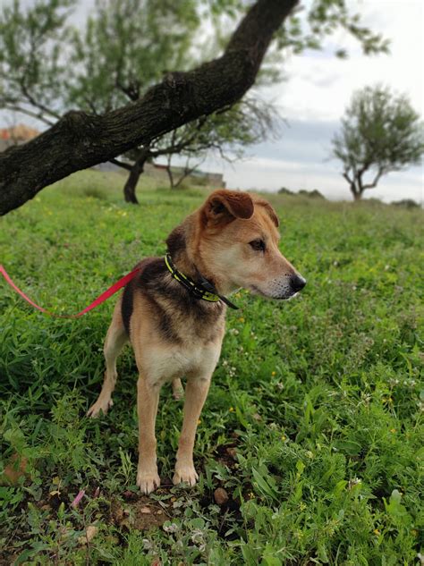
<path id="1" fill-rule="evenodd" d="M 349 4 L 352 12 L 358 10 L 357 3 Z M 406 92 L 423 113 L 424 3 L 409 0 L 401 6 L 393 0 L 369 0 L 360 7 L 361 21 L 391 39 L 390 55 L 365 57 L 352 37 L 338 31 L 319 56 L 310 51 L 291 56 L 284 69 L 287 80 L 272 92 L 284 116 L 337 120 L 353 90 L 376 82 Z M 345 47 L 349 59 L 337 59 L 333 55 L 336 46 Z"/>

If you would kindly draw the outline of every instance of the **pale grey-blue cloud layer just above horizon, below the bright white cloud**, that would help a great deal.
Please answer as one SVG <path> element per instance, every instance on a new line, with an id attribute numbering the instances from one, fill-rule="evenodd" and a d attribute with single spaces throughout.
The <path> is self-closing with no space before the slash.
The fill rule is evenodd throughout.
<path id="1" fill-rule="evenodd" d="M 328 199 L 352 199 L 340 164 L 330 159 L 331 138 L 340 122 L 293 120 L 284 128 L 281 139 L 253 146 L 242 161 L 225 164 L 209 158 L 202 169 L 224 173 L 229 188 L 270 190 L 281 187 L 298 191 L 318 189 Z M 175 164 L 182 163 L 175 159 Z M 422 168 L 412 167 L 386 175 L 367 198 L 386 202 L 414 199 L 421 202 Z"/>

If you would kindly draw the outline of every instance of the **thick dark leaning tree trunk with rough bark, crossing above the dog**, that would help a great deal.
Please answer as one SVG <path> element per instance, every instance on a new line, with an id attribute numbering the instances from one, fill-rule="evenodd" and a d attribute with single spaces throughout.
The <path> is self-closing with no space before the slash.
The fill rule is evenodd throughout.
<path id="1" fill-rule="evenodd" d="M 173 72 L 139 101 L 102 116 L 72 111 L 38 138 L 0 154 L 0 215 L 67 175 L 146 145 L 233 104 L 253 85 L 267 47 L 299 0 L 257 0 L 224 55 Z"/>

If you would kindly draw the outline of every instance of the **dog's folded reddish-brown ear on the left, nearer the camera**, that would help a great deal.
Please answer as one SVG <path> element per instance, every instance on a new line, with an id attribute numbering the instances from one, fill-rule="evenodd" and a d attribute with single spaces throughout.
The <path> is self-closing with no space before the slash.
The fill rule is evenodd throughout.
<path id="1" fill-rule="evenodd" d="M 250 218 L 253 201 L 247 192 L 215 190 L 201 208 L 203 224 L 228 223 L 235 218 Z"/>

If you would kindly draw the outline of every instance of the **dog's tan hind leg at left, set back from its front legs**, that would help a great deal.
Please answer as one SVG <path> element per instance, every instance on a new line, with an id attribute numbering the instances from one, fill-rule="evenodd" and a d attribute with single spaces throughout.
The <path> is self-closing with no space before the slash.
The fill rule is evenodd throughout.
<path id="1" fill-rule="evenodd" d="M 118 377 L 116 373 L 116 359 L 121 353 L 125 342 L 128 342 L 128 334 L 123 326 L 123 317 L 121 315 L 121 300 L 118 300 L 114 308 L 114 316 L 109 330 L 106 334 L 105 340 L 105 359 L 106 371 L 105 380 L 103 382 L 102 390 L 98 395 L 98 401 L 89 408 L 87 415 L 92 418 L 98 417 L 100 411 L 106 415 L 109 407 L 114 404 L 112 401 L 112 393 L 114 392 L 114 385 Z"/>

